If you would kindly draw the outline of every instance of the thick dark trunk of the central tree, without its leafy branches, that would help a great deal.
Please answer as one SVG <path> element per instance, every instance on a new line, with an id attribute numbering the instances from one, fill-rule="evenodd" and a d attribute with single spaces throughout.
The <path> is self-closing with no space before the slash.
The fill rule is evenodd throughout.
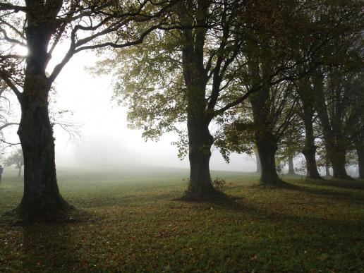
<path id="1" fill-rule="evenodd" d="M 193 18 L 187 11 L 192 8 L 191 2 L 186 6 L 181 3 L 181 22 L 193 25 Z M 198 25 L 205 25 L 207 5 L 198 4 L 196 20 Z M 212 186 L 210 177 L 211 146 L 214 142 L 210 135 L 209 116 L 206 101 L 207 71 L 204 67 L 204 44 L 206 28 L 186 29 L 181 32 L 183 78 L 186 84 L 188 158 L 190 160 L 190 181 L 186 196 L 193 199 L 210 198 L 217 191 Z"/>

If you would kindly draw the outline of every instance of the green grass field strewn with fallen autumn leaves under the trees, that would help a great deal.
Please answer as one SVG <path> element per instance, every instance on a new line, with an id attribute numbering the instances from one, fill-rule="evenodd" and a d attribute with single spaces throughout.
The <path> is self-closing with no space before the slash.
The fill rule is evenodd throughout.
<path id="1" fill-rule="evenodd" d="M 364 181 L 257 187 L 215 171 L 231 198 L 177 201 L 187 170 L 59 171 L 80 217 L 17 226 L 16 173 L 0 184 L 0 272 L 364 272 Z"/>

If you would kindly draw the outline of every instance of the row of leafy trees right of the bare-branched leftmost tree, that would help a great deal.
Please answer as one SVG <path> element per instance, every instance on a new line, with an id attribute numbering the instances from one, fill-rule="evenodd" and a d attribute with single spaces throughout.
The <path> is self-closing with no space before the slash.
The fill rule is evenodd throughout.
<path id="1" fill-rule="evenodd" d="M 227 160 L 229 152 L 251 152 L 255 145 L 260 182 L 278 185 L 279 146 L 291 165 L 293 155 L 303 152 L 308 177 L 320 178 L 316 147 L 322 139 L 334 177 L 348 178 L 346 152 L 362 147 L 360 3 L 178 5 L 174 16 L 190 28 L 154 32 L 144 44 L 116 51 L 102 69 L 119 66 L 115 97 L 128 105 L 131 125 L 144 129 L 145 138 L 180 134 L 180 154 L 190 159 L 187 195 L 214 193 L 213 144 Z M 178 126 L 181 122 L 187 131 Z M 212 123 L 221 130 L 214 138 Z"/>

